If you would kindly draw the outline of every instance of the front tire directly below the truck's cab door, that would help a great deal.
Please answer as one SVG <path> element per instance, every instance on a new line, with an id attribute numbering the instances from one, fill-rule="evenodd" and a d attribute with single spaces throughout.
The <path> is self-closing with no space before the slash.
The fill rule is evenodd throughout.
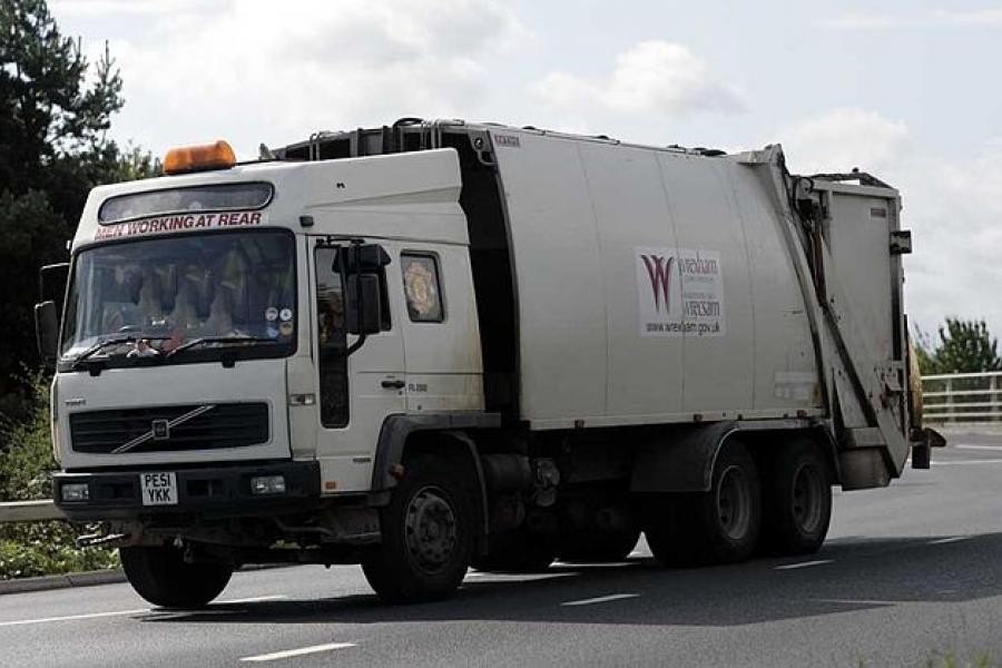
<path id="1" fill-rule="evenodd" d="M 383 542 L 362 561 L 369 583 L 387 602 L 455 593 L 474 542 L 470 491 L 445 460 L 419 455 L 380 511 Z"/>

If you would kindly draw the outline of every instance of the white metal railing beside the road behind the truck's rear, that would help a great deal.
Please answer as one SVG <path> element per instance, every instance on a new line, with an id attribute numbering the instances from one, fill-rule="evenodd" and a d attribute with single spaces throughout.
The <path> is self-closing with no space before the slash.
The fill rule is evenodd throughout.
<path id="1" fill-rule="evenodd" d="M 1002 371 L 922 376 L 922 401 L 930 424 L 1002 421 Z"/>

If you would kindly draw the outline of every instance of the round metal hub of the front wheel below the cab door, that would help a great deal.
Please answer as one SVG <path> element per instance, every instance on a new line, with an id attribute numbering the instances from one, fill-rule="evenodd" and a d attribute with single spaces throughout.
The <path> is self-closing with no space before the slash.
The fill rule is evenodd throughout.
<path id="1" fill-rule="evenodd" d="M 455 512 L 445 493 L 423 488 L 411 498 L 405 522 L 407 552 L 424 571 L 441 570 L 456 543 Z"/>

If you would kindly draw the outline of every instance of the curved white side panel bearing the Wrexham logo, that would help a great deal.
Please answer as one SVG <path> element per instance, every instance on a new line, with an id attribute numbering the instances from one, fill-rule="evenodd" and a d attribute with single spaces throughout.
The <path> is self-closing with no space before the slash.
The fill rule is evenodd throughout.
<path id="1" fill-rule="evenodd" d="M 533 426 L 823 413 L 785 220 L 753 169 L 519 139 L 499 149 L 499 165 L 522 324 L 521 409 Z M 658 258 L 672 267 L 656 293 Z"/>

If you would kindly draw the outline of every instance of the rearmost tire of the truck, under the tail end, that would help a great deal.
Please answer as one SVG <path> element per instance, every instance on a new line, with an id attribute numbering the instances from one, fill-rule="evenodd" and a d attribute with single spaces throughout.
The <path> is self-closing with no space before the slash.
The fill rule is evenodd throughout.
<path id="1" fill-rule="evenodd" d="M 816 552 L 832 520 L 832 466 L 811 441 L 783 448 L 769 462 L 763 491 L 762 550 L 794 556 Z"/>

